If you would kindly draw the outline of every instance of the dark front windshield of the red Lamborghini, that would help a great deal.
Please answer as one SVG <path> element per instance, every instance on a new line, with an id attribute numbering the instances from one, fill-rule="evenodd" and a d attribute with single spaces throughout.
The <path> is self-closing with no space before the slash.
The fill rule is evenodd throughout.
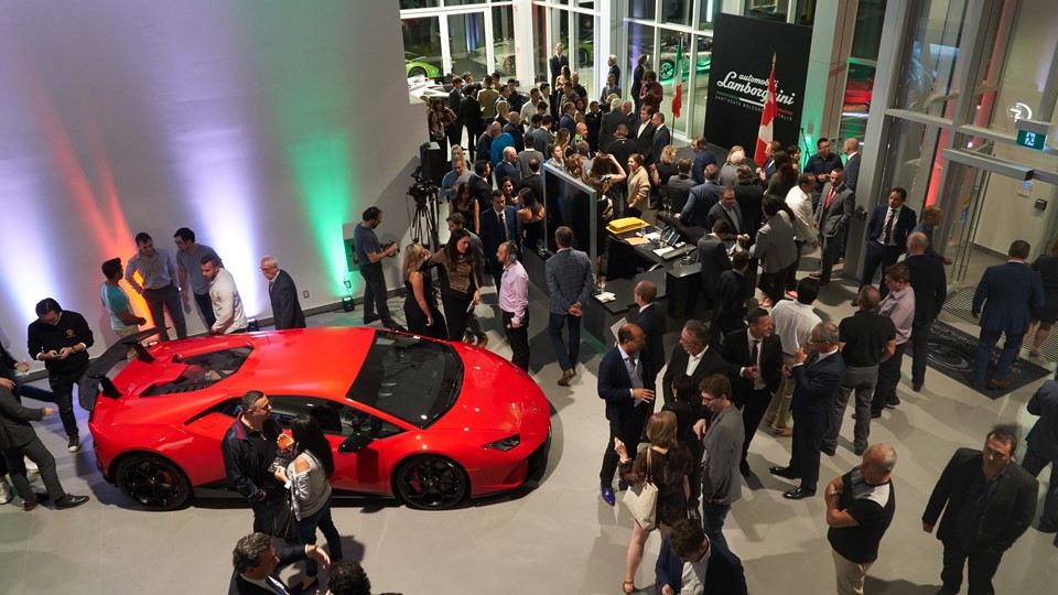
<path id="1" fill-rule="evenodd" d="M 452 347 L 380 332 L 345 397 L 427 428 L 455 404 L 462 386 L 463 361 Z"/>

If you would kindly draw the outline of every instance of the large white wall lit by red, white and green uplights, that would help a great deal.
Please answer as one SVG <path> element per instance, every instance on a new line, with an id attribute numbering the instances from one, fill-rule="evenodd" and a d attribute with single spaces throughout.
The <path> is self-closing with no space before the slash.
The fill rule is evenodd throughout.
<path id="1" fill-rule="evenodd" d="M 138 231 L 172 255 L 173 231 L 194 229 L 247 315 L 271 315 L 264 253 L 309 291 L 302 307 L 338 301 L 342 225 L 378 205 L 381 239 L 404 235 L 427 140 L 398 13 L 393 1 L 0 0 L 4 345 L 24 357 L 33 306 L 53 296 L 88 318 L 101 353 L 114 335 L 99 266 L 131 256 Z"/>

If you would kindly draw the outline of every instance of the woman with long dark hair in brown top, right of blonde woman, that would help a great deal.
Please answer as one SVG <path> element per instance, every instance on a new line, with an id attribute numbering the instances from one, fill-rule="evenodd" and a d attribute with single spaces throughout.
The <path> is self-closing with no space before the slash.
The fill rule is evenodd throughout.
<path id="1" fill-rule="evenodd" d="M 449 338 L 460 340 L 466 331 L 466 318 L 471 306 L 482 300 L 482 280 L 478 277 L 481 263 L 471 249 L 471 236 L 465 229 L 456 229 L 449 237 L 444 249 L 434 252 L 423 268 L 441 269 L 441 306 L 449 325 Z"/>

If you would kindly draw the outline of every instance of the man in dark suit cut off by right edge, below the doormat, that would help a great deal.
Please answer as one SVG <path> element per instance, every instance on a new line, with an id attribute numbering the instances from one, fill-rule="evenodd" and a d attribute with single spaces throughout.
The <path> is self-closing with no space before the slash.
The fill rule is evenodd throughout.
<path id="1" fill-rule="evenodd" d="M 1033 477 L 1050 465 L 1050 486 L 1044 496 L 1044 515 L 1039 517 L 1039 530 L 1058 532 L 1058 380 L 1044 382 L 1028 400 L 1028 412 L 1039 419 L 1033 424 L 1025 442 L 1028 450 L 1022 467 Z M 1058 547 L 1058 538 L 1055 538 Z"/>

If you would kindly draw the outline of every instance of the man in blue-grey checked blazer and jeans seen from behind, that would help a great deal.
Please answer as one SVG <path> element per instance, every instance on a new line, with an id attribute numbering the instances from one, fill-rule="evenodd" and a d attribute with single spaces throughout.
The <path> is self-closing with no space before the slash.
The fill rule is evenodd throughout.
<path id="1" fill-rule="evenodd" d="M 592 281 L 592 261 L 586 253 L 573 249 L 573 230 L 562 226 L 554 230 L 559 251 L 548 259 L 544 277 L 551 301 L 548 306 L 548 335 L 554 356 L 562 368 L 560 387 L 570 386 L 576 374 L 576 358 L 581 350 L 581 315 L 595 283 Z M 562 343 L 562 327 L 569 327 L 569 346 Z"/>

